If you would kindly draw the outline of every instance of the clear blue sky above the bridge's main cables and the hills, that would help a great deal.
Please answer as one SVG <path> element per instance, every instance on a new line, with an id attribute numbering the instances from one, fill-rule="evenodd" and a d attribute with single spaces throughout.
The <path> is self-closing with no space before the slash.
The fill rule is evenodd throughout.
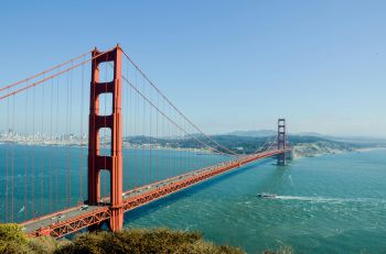
<path id="1" fill-rule="evenodd" d="M 0 87 L 122 48 L 206 133 L 386 137 L 386 1 L 2 1 Z"/>

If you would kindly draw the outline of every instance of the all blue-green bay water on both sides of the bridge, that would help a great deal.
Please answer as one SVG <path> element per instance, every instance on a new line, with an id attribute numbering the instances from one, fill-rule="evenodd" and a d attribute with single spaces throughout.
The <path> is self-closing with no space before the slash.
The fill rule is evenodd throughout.
<path id="1" fill-rule="evenodd" d="M 82 201 L 86 154 L 81 147 L 0 145 L 0 220 L 11 220 L 10 158 L 12 219 L 18 222 Z M 130 189 L 228 158 L 126 150 L 124 186 Z M 386 150 L 301 158 L 286 167 L 275 163 L 250 164 L 127 212 L 125 228 L 199 230 L 206 240 L 248 253 L 280 246 L 296 253 L 386 253 Z M 106 175 L 101 188 L 108 195 Z M 259 199 L 258 192 L 277 198 Z"/>

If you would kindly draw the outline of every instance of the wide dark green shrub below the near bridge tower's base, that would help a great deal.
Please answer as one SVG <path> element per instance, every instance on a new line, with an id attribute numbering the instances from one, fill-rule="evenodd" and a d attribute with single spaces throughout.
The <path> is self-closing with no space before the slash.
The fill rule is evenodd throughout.
<path id="1" fill-rule="evenodd" d="M 122 230 L 115 233 L 97 232 L 77 235 L 72 243 L 56 250 L 64 253 L 244 253 L 240 249 L 217 246 L 205 242 L 199 232 L 182 232 L 168 229 Z"/>

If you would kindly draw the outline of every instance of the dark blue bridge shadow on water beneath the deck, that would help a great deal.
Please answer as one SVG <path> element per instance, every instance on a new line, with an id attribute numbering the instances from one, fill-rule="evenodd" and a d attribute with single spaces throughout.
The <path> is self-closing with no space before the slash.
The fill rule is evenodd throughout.
<path id="1" fill-rule="evenodd" d="M 203 183 L 196 184 L 196 185 L 189 187 L 186 189 L 171 194 L 168 197 L 161 198 L 159 200 L 156 200 L 156 201 L 150 202 L 148 205 L 144 205 L 142 207 L 130 210 L 130 211 L 125 213 L 124 223 L 125 223 L 125 225 L 128 225 L 131 221 L 140 219 L 147 214 L 150 214 L 151 212 L 154 212 L 164 206 L 169 206 L 169 205 L 178 202 L 181 199 L 189 198 L 189 197 L 195 195 L 196 192 L 204 190 L 204 189 L 207 189 L 208 187 L 213 187 L 215 185 L 218 185 L 222 181 L 224 181 L 230 177 L 247 173 L 251 169 L 256 169 L 256 167 L 258 167 L 258 166 L 270 165 L 270 164 L 271 164 L 271 158 L 267 158 L 267 159 L 261 161 L 261 162 L 256 162 L 254 164 L 237 168 L 236 170 L 232 170 L 232 172 L 222 174 L 219 176 L 216 176 L 214 178 L 210 178 Z M 276 165 L 276 164 L 271 164 L 271 165 Z"/>

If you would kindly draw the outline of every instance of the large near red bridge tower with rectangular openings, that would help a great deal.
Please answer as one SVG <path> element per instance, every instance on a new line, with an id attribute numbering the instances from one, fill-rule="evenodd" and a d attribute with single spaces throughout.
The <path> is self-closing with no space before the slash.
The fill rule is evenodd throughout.
<path id="1" fill-rule="evenodd" d="M 97 48 L 93 51 L 89 129 L 88 129 L 88 205 L 97 206 L 100 200 L 100 170 L 110 174 L 110 221 L 111 231 L 122 228 L 122 121 L 121 121 L 121 48 L 119 45 L 101 54 Z M 99 82 L 99 64 L 111 63 L 114 65 L 114 78 L 111 81 Z M 112 110 L 110 115 L 100 115 L 99 96 L 111 93 Z M 107 97 L 109 98 L 109 97 Z M 110 154 L 100 155 L 99 130 L 111 130 Z M 98 228 L 100 225 L 95 225 Z M 92 228 L 93 229 L 93 228 Z"/>

